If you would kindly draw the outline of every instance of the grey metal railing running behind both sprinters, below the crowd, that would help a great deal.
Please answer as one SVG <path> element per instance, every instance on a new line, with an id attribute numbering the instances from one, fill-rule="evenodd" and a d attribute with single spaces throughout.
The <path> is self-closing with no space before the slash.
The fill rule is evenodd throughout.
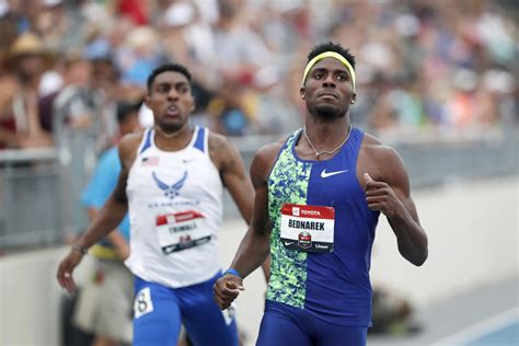
<path id="1" fill-rule="evenodd" d="M 519 172 L 516 126 L 472 135 L 465 131 L 384 136 L 383 141 L 404 159 L 413 188 Z M 279 138 L 243 137 L 231 141 L 249 168 L 258 148 Z M 84 229 L 88 218 L 79 194 L 93 164 L 84 164 L 82 153 L 72 151 L 0 151 L 0 251 L 62 243 L 66 237 Z M 74 160 L 80 163 L 74 164 Z M 239 216 L 228 193 L 224 210 L 227 218 Z"/>

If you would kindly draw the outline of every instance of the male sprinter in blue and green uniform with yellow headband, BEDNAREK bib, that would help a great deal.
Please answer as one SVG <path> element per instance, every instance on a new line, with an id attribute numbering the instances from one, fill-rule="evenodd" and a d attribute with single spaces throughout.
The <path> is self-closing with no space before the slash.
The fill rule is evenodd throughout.
<path id="1" fill-rule="evenodd" d="M 366 345 L 371 318 L 371 247 L 380 212 L 399 251 L 427 258 L 400 155 L 351 126 L 355 58 L 341 45 L 308 57 L 305 126 L 262 148 L 251 165 L 253 219 L 215 299 L 227 309 L 242 280 L 272 254 L 257 345 Z"/>

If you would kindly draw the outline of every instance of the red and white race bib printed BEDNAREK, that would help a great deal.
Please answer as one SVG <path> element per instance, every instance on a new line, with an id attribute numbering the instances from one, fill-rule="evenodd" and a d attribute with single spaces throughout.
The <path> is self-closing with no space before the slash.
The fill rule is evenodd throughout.
<path id="1" fill-rule="evenodd" d="M 312 253 L 333 252 L 335 209 L 332 207 L 284 204 L 281 244 Z"/>

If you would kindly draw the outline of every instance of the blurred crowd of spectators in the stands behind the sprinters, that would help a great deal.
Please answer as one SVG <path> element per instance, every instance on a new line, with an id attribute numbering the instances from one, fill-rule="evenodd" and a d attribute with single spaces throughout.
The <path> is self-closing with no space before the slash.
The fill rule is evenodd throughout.
<path id="1" fill-rule="evenodd" d="M 305 53 L 326 39 L 356 56 L 357 126 L 517 122 L 517 15 L 511 0 L 0 0 L 0 149 L 102 151 L 164 61 L 194 74 L 194 123 L 291 131 Z"/>

